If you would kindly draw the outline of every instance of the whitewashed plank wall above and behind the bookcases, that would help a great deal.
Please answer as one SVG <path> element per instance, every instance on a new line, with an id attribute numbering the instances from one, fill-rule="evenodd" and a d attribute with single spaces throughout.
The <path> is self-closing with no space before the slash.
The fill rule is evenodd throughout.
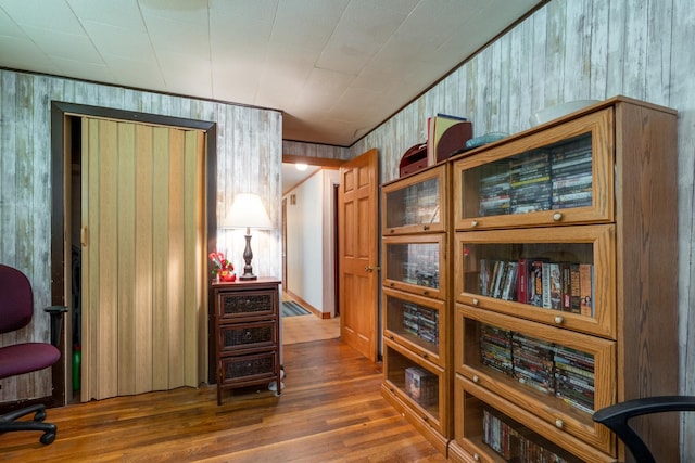
<path id="1" fill-rule="evenodd" d="M 381 156 L 382 182 L 426 138 L 428 116 L 467 116 L 473 134 L 515 133 L 564 101 L 616 94 L 679 111 L 681 391 L 695 395 L 695 9 L 691 0 L 553 0 L 351 146 Z M 674 262 L 674 265 L 677 265 Z M 695 461 L 695 413 L 683 417 L 683 461 Z"/>

